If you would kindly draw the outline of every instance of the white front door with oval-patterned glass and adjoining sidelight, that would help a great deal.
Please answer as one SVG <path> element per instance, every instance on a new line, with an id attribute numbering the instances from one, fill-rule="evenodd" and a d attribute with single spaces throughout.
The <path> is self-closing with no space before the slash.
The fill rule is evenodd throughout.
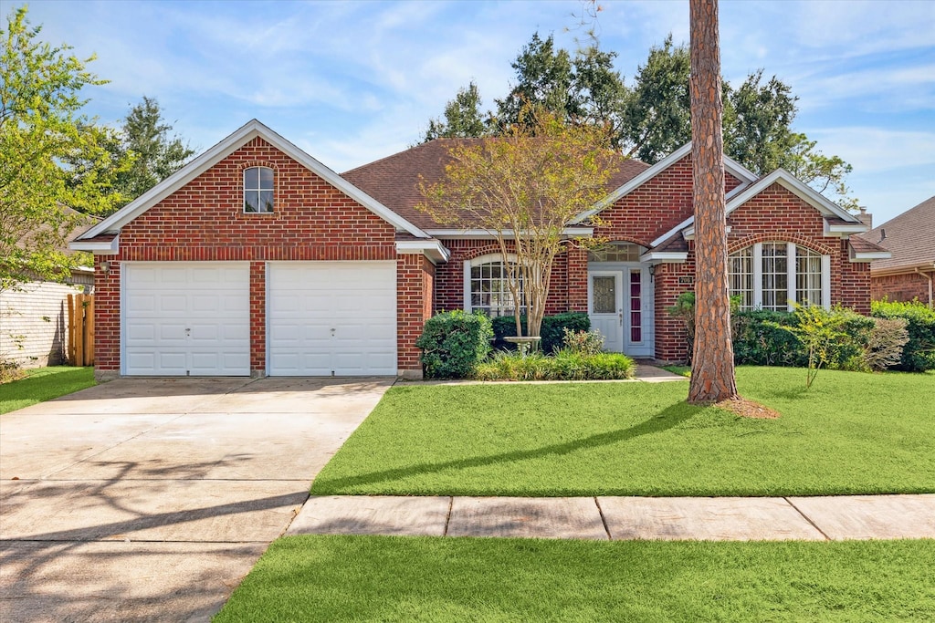
<path id="1" fill-rule="evenodd" d="M 653 297 L 649 275 L 639 265 L 588 272 L 591 328 L 604 336 L 604 348 L 632 357 L 653 356 Z"/>

